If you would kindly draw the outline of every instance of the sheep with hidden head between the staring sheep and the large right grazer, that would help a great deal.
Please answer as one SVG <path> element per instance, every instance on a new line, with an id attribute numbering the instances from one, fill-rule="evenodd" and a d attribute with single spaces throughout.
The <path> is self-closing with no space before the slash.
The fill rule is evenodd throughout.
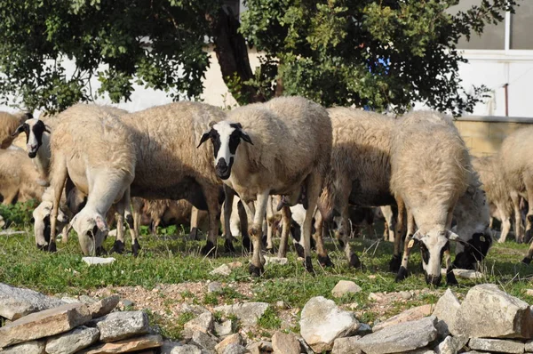
<path id="1" fill-rule="evenodd" d="M 360 267 L 349 236 L 349 205 L 380 206 L 395 204 L 390 191 L 390 149 L 394 119 L 361 109 L 328 109 L 333 126 L 331 169 L 325 177 L 320 197 L 325 221 L 333 212 L 342 222 L 336 232 L 338 242 L 353 267 Z M 322 221 L 317 228 L 322 234 Z M 320 238 L 320 237 L 317 237 Z"/>

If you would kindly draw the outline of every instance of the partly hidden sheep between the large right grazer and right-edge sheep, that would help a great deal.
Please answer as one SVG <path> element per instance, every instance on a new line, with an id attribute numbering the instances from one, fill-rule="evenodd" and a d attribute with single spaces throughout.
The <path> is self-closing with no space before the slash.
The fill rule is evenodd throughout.
<path id="1" fill-rule="evenodd" d="M 494 216 L 502 222 L 502 232 L 498 242 L 503 243 L 511 230 L 513 216 L 513 202 L 505 184 L 504 173 L 498 165 L 497 157 L 474 157 L 472 165 L 480 175 L 482 189 L 486 193 L 489 205 L 493 205 Z"/>

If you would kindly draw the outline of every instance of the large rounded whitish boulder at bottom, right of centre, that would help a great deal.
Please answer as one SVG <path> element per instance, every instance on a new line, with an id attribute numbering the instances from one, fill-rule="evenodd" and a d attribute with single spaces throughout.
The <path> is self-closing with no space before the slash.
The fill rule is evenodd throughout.
<path id="1" fill-rule="evenodd" d="M 299 324 L 300 334 L 315 352 L 331 350 L 337 338 L 353 334 L 360 326 L 352 312 L 338 309 L 322 296 L 306 303 Z"/>

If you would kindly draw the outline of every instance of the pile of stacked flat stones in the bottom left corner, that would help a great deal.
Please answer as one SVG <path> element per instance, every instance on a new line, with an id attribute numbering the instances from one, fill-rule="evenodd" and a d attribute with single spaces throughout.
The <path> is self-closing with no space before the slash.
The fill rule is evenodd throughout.
<path id="1" fill-rule="evenodd" d="M 161 335 L 142 311 L 111 312 L 119 297 L 64 302 L 0 284 L 0 353 L 155 353 Z M 141 351 L 142 350 L 142 351 Z"/>

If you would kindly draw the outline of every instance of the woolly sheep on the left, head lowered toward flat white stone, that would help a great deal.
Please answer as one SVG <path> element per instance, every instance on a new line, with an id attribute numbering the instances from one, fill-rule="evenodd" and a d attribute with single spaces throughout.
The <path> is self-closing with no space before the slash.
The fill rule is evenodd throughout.
<path id="1" fill-rule="evenodd" d="M 57 118 L 51 135 L 54 200 L 49 249 L 55 248 L 58 208 L 69 177 L 88 196 L 70 226 L 76 229 L 84 254 L 98 253 L 108 231 L 106 214 L 114 203 L 118 203 L 117 238 L 123 239 L 123 214 L 130 207 L 137 162 L 131 132 L 118 117 L 94 105 L 77 104 Z"/>

